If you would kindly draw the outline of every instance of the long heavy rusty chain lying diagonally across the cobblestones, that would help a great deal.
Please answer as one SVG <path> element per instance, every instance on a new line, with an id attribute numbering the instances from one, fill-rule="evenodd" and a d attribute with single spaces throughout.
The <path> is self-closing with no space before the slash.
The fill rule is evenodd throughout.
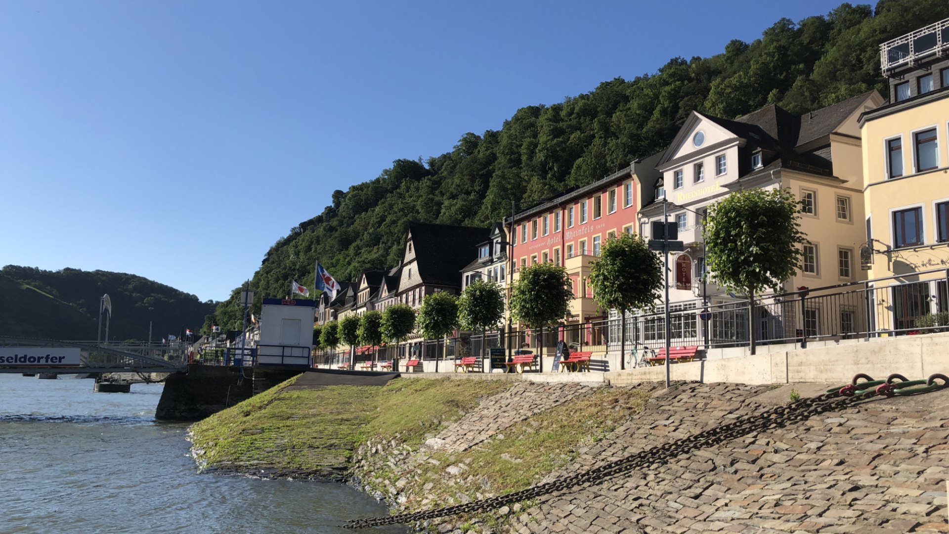
<path id="1" fill-rule="evenodd" d="M 820 395 L 799 399 L 790 404 L 754 415 L 744 415 L 736 418 L 732 423 L 727 423 L 713 429 L 702 430 L 697 434 L 679 439 L 671 444 L 648 448 L 604 465 L 592 467 L 583 472 L 568 475 L 537 486 L 513 491 L 512 493 L 480 499 L 463 505 L 451 505 L 385 517 L 354 519 L 348 521 L 343 526 L 344 528 L 356 529 L 385 524 L 414 524 L 419 521 L 437 519 L 461 513 L 493 510 L 504 505 L 512 505 L 521 501 L 542 497 L 571 487 L 601 483 L 610 477 L 634 469 L 659 467 L 681 454 L 726 443 L 753 432 L 783 428 L 794 423 L 807 421 L 810 417 L 827 411 L 843 410 L 850 405 L 877 395 L 877 384 L 898 385 L 898 382 L 893 381 L 894 376 L 902 378 L 900 375 L 890 375 L 887 380 L 874 381 L 865 374 L 858 374 L 853 378 L 850 384 L 842 388 L 828 390 L 828 392 Z M 866 382 L 858 382 L 860 378 L 865 378 Z M 937 384 L 935 382 L 936 379 L 942 380 L 943 383 L 941 385 Z M 905 381 L 904 378 L 902 378 L 902 380 Z M 873 382 L 873 384 L 868 384 L 869 382 Z M 936 389 L 942 389 L 949 385 L 949 379 L 946 379 L 946 377 L 941 374 L 934 374 L 930 376 L 928 380 L 921 382 L 927 383 L 929 386 L 936 385 L 938 387 L 925 388 L 916 392 L 935 391 Z M 884 391 L 881 391 L 880 394 L 886 394 Z M 903 394 L 911 394 L 911 392 L 907 391 Z"/>

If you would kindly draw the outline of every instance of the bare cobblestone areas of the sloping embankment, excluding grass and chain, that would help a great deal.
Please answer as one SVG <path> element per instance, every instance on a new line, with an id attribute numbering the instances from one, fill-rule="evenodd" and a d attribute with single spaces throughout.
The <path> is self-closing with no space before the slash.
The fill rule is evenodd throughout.
<path id="1" fill-rule="evenodd" d="M 551 390 L 540 391 L 545 388 Z M 663 391 L 661 384 L 642 383 L 625 388 L 651 391 L 644 409 L 596 443 L 579 448 L 545 481 L 788 402 L 787 391 L 771 386 L 677 383 Z M 370 444 L 357 455 L 362 460 L 357 473 L 367 480 L 377 476 L 377 487 L 400 511 L 491 496 L 491 488 L 482 487 L 446 500 L 431 493 L 431 484 L 419 490 L 412 481 L 434 469 L 447 486 L 476 486 L 474 469 L 435 460 L 437 451 L 483 448 L 505 429 L 596 390 L 603 389 L 520 384 L 482 401 L 478 410 L 439 431 L 419 450 L 383 452 Z M 523 534 L 947 532 L 947 438 L 949 391 L 879 398 L 599 485 L 478 517 L 446 518 L 429 527 Z M 387 476 L 378 476 L 381 465 Z"/>

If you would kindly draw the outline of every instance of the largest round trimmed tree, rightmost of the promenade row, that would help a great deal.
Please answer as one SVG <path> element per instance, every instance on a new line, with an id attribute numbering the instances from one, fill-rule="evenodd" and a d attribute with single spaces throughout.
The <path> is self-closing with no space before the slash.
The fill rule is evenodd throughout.
<path id="1" fill-rule="evenodd" d="M 800 211 L 800 202 L 787 189 L 735 191 L 709 208 L 705 261 L 716 284 L 748 296 L 753 354 L 754 297 L 766 289 L 781 291 L 797 271 L 801 245 L 808 242 L 797 220 Z"/>

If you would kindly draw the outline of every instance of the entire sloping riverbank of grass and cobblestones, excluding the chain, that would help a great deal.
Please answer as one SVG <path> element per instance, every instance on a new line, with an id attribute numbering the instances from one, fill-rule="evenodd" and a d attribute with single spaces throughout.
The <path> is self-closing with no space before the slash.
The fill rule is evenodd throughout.
<path id="1" fill-rule="evenodd" d="M 823 387 L 802 390 L 805 395 Z M 801 389 L 800 387 L 798 389 Z M 789 401 L 789 388 L 397 379 L 268 391 L 194 427 L 210 468 L 348 480 L 415 511 L 509 493 Z M 949 531 L 949 391 L 880 399 L 437 532 Z"/>

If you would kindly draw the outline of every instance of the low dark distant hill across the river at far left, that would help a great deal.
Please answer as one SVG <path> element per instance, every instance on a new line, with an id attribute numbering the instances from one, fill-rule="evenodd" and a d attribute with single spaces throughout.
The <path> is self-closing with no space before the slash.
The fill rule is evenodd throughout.
<path id="1" fill-rule="evenodd" d="M 109 337 L 120 341 L 147 339 L 149 321 L 153 340 L 184 328 L 196 333 L 216 305 L 135 275 L 7 265 L 0 269 L 0 335 L 95 339 L 99 298 L 106 293 L 113 313 Z"/>

